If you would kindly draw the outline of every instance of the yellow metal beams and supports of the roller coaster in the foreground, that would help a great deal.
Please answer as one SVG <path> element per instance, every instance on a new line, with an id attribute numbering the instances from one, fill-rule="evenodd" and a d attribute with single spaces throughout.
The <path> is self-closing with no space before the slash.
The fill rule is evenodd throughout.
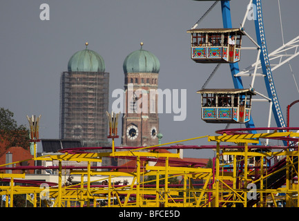
<path id="1" fill-rule="evenodd" d="M 113 151 L 111 153 L 64 153 L 61 155 L 46 155 L 35 157 L 34 160 L 59 161 L 58 183 L 56 186 L 49 186 L 43 189 L 41 186 L 17 185 L 15 179 L 26 179 L 26 174 L 0 173 L 1 179 L 10 179 L 8 186 L 0 186 L 0 195 L 5 197 L 5 206 L 13 206 L 14 195 L 26 195 L 33 206 L 41 206 L 40 200 L 44 199 L 47 206 L 177 206 L 177 207 L 198 207 L 198 206 L 279 206 L 278 202 L 283 201 L 286 206 L 299 206 L 298 193 L 298 151 L 271 151 L 254 152 L 248 148 L 249 143 L 258 143 L 260 139 L 269 137 L 299 137 L 299 133 L 274 132 L 259 133 L 254 135 L 220 135 L 195 137 L 189 140 L 208 137 L 215 145 L 215 166 L 213 169 L 189 166 L 170 166 L 171 157 L 179 158 L 179 153 L 155 153 L 154 151 L 143 152 L 139 148 L 132 151 Z M 187 140 L 183 140 L 187 141 Z M 180 141 L 182 142 L 182 141 Z M 233 142 L 242 148 L 223 149 L 221 142 Z M 177 142 L 170 142 L 173 144 Z M 161 144 L 166 145 L 166 144 Z M 157 145 L 159 146 L 159 145 Z M 151 147 L 147 147 L 151 148 Z M 90 169 L 91 162 L 102 162 L 102 157 L 135 157 L 136 169 L 134 172 L 121 171 L 95 171 Z M 232 162 L 223 162 L 224 156 L 229 156 Z M 267 174 L 267 164 L 264 159 L 267 157 L 285 157 L 285 166 Z M 165 166 L 141 165 L 140 157 L 155 157 L 163 159 Z M 251 169 L 249 162 L 254 157 L 260 158 L 260 163 Z M 32 159 L 29 159 L 32 160 Z M 70 175 L 81 175 L 81 182 L 76 185 L 67 186 L 62 181 L 62 162 L 88 162 L 84 170 L 70 170 Z M 240 164 L 243 162 L 242 169 Z M 17 162 L 14 162 L 17 163 Z M 6 166 L 1 165 L 1 166 Z M 229 168 L 229 169 L 227 169 Z M 269 178 L 273 175 L 283 175 L 285 185 L 270 186 Z M 154 176 L 154 187 L 148 187 L 146 176 Z M 108 177 L 108 186 L 96 186 L 95 182 L 102 181 L 102 177 Z M 84 182 L 87 177 L 87 182 Z M 91 177 L 99 177 L 91 181 Z M 115 177 L 132 177 L 131 184 L 126 186 L 115 186 Z M 180 177 L 180 186 L 168 184 L 171 177 Z M 198 188 L 192 184 L 192 180 L 201 180 L 202 186 Z M 161 185 L 160 182 L 164 182 Z M 255 189 L 249 189 L 255 186 Z M 281 193 L 284 193 L 283 195 Z M 46 198 L 45 198 L 46 194 Z M 254 197 L 256 196 L 256 199 Z M 10 199 L 10 200 L 9 200 Z M 39 200 L 38 200 L 39 199 Z M 106 202 L 103 204 L 102 202 Z"/>

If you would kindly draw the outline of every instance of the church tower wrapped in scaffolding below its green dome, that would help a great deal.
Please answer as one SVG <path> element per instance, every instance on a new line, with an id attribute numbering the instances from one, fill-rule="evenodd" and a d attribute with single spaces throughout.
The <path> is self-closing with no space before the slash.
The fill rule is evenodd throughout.
<path id="1" fill-rule="evenodd" d="M 87 46 L 70 57 L 68 71 L 61 73 L 60 139 L 108 146 L 109 73 L 104 59 Z"/>

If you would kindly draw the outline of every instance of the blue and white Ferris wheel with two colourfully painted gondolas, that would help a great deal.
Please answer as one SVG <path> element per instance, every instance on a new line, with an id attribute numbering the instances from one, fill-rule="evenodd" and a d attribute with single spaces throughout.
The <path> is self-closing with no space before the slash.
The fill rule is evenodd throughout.
<path id="1" fill-rule="evenodd" d="M 221 2 L 223 28 L 197 28 L 200 21 L 202 21 L 219 2 Z M 280 10 L 279 0 L 278 6 Z M 249 33 L 245 32 L 244 29 L 244 24 L 249 13 L 251 13 L 254 18 L 256 41 Z M 280 27 L 282 31 L 281 14 Z M 259 95 L 262 97 L 260 100 L 269 102 L 268 127 L 271 125 L 272 114 L 277 127 L 287 126 L 276 92 L 272 70 L 275 70 L 283 64 L 289 64 L 291 59 L 299 55 L 297 50 L 299 47 L 299 36 L 287 43 L 283 42 L 280 48 L 268 53 L 262 17 L 262 0 L 249 1 L 244 19 L 242 23 L 240 23 L 240 28 L 233 28 L 232 26 L 230 1 L 215 1 L 209 10 L 195 23 L 193 28 L 187 32 L 191 33 L 191 59 L 197 63 L 216 64 L 215 69 L 204 83 L 204 86 L 202 86 L 202 90 L 197 92 L 202 95 L 202 119 L 204 121 L 209 123 L 227 123 L 227 125 L 231 123 L 244 123 L 247 128 L 255 128 L 253 117 L 251 117 L 251 102 L 258 99 L 252 99 L 251 95 Z M 258 49 L 258 55 L 254 64 L 240 71 L 238 61 L 242 59 L 240 55 L 241 50 L 249 49 L 241 46 L 242 36 L 244 35 L 248 37 L 255 45 L 255 48 Z M 233 39 L 233 45 L 229 43 L 231 39 Z M 282 41 L 284 41 L 283 32 Z M 270 61 L 274 59 L 278 59 L 275 65 L 270 63 Z M 223 63 L 227 63 L 230 66 L 234 89 L 230 91 L 218 90 L 217 92 L 215 89 L 214 92 L 213 90 L 205 89 L 220 64 Z M 254 88 L 255 79 L 260 76 L 264 79 L 267 95 L 263 95 Z M 247 90 L 244 90 L 242 77 L 252 78 Z M 295 78 L 294 81 L 296 84 Z M 298 90 L 297 84 L 296 87 Z M 245 104 L 242 105 L 241 102 L 245 102 Z M 243 117 L 245 113 L 247 113 L 247 119 Z M 255 131 L 252 131 L 252 133 L 255 133 Z"/>

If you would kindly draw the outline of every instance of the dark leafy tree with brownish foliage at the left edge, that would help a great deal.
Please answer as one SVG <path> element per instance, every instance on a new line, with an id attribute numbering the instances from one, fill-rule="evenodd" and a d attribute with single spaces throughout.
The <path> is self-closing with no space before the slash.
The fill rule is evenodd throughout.
<path id="1" fill-rule="evenodd" d="M 13 119 L 14 113 L 5 108 L 0 108 L 0 143 L 6 148 L 21 146 L 28 150 L 29 131 L 24 125 L 17 125 Z"/>

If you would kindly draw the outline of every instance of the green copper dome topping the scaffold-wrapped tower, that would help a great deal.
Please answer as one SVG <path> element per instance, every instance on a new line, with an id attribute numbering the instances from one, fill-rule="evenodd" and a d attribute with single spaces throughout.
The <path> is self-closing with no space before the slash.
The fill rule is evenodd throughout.
<path id="1" fill-rule="evenodd" d="M 86 49 L 75 52 L 68 61 L 68 71 L 105 72 L 104 59 L 93 50 Z"/>

